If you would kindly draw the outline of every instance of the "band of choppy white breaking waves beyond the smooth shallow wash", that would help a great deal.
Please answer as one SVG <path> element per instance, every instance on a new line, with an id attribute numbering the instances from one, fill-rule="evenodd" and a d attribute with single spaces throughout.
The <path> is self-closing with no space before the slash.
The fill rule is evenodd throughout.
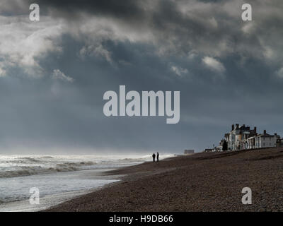
<path id="1" fill-rule="evenodd" d="M 85 169 L 107 169 L 137 164 L 145 160 L 149 160 L 149 156 L 123 158 L 95 155 L 0 155 L 0 178 Z"/>

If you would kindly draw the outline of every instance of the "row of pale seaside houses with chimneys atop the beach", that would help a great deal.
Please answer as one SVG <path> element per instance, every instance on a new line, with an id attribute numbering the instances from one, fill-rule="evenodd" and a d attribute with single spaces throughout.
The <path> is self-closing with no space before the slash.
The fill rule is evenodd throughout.
<path id="1" fill-rule="evenodd" d="M 222 150 L 246 150 L 254 148 L 270 148 L 283 144 L 283 139 L 277 133 L 269 134 L 266 130 L 258 133 L 257 128 L 250 129 L 250 126 L 239 126 L 233 124 L 231 131 L 224 135 L 217 147 L 206 149 L 204 151 L 222 151 Z"/>

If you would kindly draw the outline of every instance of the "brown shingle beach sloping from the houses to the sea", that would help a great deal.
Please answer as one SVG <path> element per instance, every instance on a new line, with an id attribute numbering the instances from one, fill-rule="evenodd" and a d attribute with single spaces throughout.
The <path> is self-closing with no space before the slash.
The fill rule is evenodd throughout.
<path id="1" fill-rule="evenodd" d="M 283 211 L 283 148 L 196 153 L 107 174 L 122 180 L 46 211 Z M 241 202 L 243 187 L 251 205 Z"/>

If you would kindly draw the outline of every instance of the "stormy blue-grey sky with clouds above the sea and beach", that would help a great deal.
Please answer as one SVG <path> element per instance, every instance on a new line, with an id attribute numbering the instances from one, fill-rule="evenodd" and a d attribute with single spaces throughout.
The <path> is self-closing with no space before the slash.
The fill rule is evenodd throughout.
<path id="1" fill-rule="evenodd" d="M 40 21 L 30 21 L 30 4 Z M 241 6 L 252 6 L 243 21 Z M 283 136 L 283 1 L 0 1 L 0 154 L 183 153 L 231 124 Z M 180 121 L 103 94 L 180 91 Z"/>

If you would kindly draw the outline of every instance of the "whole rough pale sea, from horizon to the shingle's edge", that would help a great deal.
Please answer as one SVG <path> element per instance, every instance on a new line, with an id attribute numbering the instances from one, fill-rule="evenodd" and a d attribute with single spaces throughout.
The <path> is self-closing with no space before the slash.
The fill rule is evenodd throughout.
<path id="1" fill-rule="evenodd" d="M 118 176 L 103 172 L 146 161 L 151 161 L 151 155 L 0 155 L 0 211 L 56 206 L 119 181 Z M 30 202 L 35 191 L 39 203 Z"/>

